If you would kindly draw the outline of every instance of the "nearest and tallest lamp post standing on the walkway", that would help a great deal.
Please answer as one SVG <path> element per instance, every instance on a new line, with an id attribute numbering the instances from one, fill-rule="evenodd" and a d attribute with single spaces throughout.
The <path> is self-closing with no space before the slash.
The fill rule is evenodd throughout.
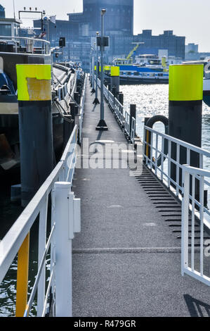
<path id="1" fill-rule="evenodd" d="M 104 15 L 106 9 L 101 11 L 101 37 L 100 37 L 100 121 L 96 127 L 96 130 L 108 130 L 108 127 L 104 119 L 104 98 L 103 98 L 103 84 L 104 84 L 104 72 L 103 72 L 103 52 L 104 46 Z"/>

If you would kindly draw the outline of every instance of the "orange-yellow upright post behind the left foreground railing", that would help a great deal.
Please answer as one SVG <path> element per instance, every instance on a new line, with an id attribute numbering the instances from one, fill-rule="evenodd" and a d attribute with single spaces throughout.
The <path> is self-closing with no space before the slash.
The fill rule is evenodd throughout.
<path id="1" fill-rule="evenodd" d="M 16 292 L 16 317 L 23 317 L 27 306 L 29 268 L 29 233 L 18 251 L 18 275 Z"/>

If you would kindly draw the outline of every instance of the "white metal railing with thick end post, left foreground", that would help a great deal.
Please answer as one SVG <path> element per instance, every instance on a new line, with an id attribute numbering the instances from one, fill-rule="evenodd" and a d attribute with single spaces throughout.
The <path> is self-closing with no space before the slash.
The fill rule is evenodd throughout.
<path id="1" fill-rule="evenodd" d="M 53 316 L 71 316 L 71 240 L 80 229 L 80 201 L 71 192 L 77 159 L 77 125 L 60 162 L 46 182 L 22 212 L 13 227 L 0 242 L 0 283 L 13 263 L 22 243 L 37 217 L 39 217 L 39 258 L 38 273 L 29 296 L 25 316 L 28 316 L 34 296 L 37 293 L 37 316 L 45 316 L 48 295 L 53 293 L 55 309 Z M 48 202 L 51 205 L 51 233 L 46 242 Z M 61 236 L 63 234 L 63 236 Z M 65 235 L 66 234 L 66 235 Z M 51 247 L 51 271 L 46 289 L 46 255 Z M 63 260 L 65 256 L 65 261 Z M 21 268 L 19 266 L 18 268 Z M 62 277 L 62 280 L 60 279 Z M 18 298 L 16 298 L 18 300 Z M 19 298 L 21 301 L 21 296 Z M 21 302 L 19 302 L 21 305 Z M 17 305 L 16 305 L 17 306 Z M 23 314 L 22 314 L 23 315 Z"/>

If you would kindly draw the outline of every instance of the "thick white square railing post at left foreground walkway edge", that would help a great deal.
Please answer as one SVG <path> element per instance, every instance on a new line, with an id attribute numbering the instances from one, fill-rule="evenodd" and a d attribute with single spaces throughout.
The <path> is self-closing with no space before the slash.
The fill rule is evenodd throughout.
<path id="1" fill-rule="evenodd" d="M 71 183 L 55 183 L 55 316 L 72 316 L 72 228 Z M 71 226 L 72 225 L 72 226 Z"/>

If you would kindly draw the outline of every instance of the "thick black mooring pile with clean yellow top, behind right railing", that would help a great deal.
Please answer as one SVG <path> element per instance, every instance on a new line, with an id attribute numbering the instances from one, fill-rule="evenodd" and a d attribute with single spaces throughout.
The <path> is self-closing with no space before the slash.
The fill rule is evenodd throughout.
<path id="1" fill-rule="evenodd" d="M 169 135 L 195 146 L 202 146 L 203 71 L 200 64 L 169 67 Z M 176 144 L 171 144 L 171 157 L 176 160 Z M 186 164 L 187 151 L 180 149 L 180 163 Z M 199 168 L 199 155 L 190 154 L 190 165 Z M 180 170 L 182 186 L 182 173 Z M 171 162 L 171 178 L 176 181 L 176 165 Z M 199 196 L 198 183 L 196 196 Z"/>

